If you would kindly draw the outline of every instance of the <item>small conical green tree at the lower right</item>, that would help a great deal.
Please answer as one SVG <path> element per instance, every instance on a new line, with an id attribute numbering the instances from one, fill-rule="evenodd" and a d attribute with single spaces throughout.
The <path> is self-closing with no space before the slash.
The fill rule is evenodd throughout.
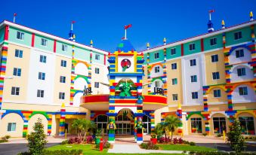
<path id="1" fill-rule="evenodd" d="M 245 150 L 245 138 L 242 136 L 242 127 L 238 120 L 234 120 L 231 124 L 230 132 L 227 132 L 227 142 L 230 144 L 231 149 L 236 152 Z"/>

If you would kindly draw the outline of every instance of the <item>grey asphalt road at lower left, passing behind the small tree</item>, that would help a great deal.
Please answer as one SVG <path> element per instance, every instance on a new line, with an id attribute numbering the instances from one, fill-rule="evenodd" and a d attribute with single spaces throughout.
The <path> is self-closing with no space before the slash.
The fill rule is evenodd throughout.
<path id="1" fill-rule="evenodd" d="M 46 147 L 51 147 L 60 143 L 48 143 Z M 26 144 L 0 144 L 0 155 L 16 155 L 20 152 L 25 152 L 28 150 Z"/>

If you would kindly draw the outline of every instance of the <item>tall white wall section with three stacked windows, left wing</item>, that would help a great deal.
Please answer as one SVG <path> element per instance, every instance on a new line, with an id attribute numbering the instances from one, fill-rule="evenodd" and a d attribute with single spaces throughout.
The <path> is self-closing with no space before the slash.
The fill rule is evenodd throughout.
<path id="1" fill-rule="evenodd" d="M 46 63 L 40 62 L 40 55 L 46 56 Z M 27 100 L 30 104 L 49 105 L 54 99 L 55 56 L 40 50 L 33 50 L 30 54 L 29 83 Z M 45 80 L 39 80 L 39 72 L 45 73 Z M 56 77 L 59 78 L 59 77 Z M 69 81 L 66 81 L 69 82 Z M 37 97 L 37 90 L 45 90 L 44 97 Z"/>

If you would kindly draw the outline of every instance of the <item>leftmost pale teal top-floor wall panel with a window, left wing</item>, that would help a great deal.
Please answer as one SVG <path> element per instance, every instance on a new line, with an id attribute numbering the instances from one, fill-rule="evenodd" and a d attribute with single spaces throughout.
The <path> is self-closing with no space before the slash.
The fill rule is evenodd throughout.
<path id="1" fill-rule="evenodd" d="M 24 33 L 24 40 L 17 39 L 17 32 L 18 31 Z M 23 31 L 23 30 L 20 30 L 20 29 L 16 29 L 16 28 L 10 26 L 9 27 L 9 38 L 8 38 L 8 40 L 12 41 L 14 43 L 17 43 L 17 44 L 23 44 L 23 45 L 26 45 L 26 46 L 31 46 L 32 33 L 31 32 L 26 32 L 26 31 Z"/>

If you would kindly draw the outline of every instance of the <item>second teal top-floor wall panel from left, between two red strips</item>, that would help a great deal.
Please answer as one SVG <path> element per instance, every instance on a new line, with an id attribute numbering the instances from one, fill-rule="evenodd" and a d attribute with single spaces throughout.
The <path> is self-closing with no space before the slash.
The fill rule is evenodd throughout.
<path id="1" fill-rule="evenodd" d="M 42 38 L 48 40 L 47 41 L 47 46 L 42 46 L 41 45 Z M 54 40 L 51 39 L 51 38 L 43 37 L 42 35 L 36 35 L 35 34 L 35 47 L 39 48 L 41 50 L 48 50 L 48 51 L 54 52 Z"/>

